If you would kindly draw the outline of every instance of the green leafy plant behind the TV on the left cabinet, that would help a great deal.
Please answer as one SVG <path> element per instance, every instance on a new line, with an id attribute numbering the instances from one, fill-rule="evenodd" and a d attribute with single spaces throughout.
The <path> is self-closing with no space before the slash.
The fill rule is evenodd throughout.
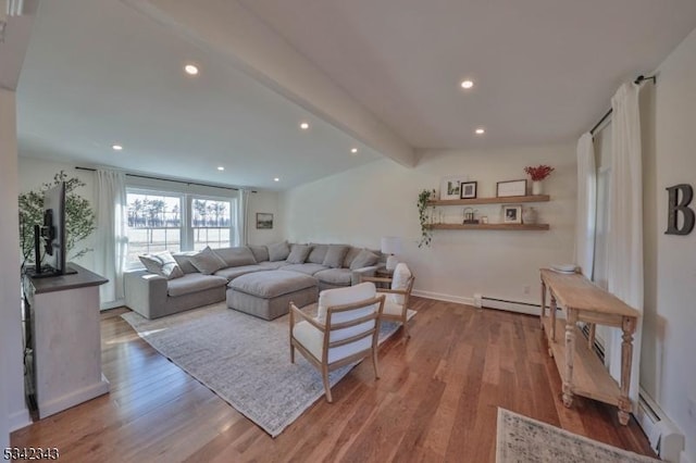
<path id="1" fill-rule="evenodd" d="M 24 262 L 34 260 L 34 225 L 44 223 L 44 193 L 65 182 L 65 249 L 70 260 L 79 259 L 91 248 L 75 249 L 76 245 L 97 228 L 97 218 L 89 201 L 75 192 L 85 183 L 77 177 L 69 177 L 61 171 L 53 176 L 53 183 L 44 184 L 40 189 L 20 195 L 20 243 Z"/>

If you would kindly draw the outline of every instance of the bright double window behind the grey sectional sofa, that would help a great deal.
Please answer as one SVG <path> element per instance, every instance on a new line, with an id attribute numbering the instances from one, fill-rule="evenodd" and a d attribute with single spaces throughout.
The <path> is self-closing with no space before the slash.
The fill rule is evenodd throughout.
<path id="1" fill-rule="evenodd" d="M 235 245 L 236 199 L 136 188 L 126 192 L 128 267 L 139 266 L 138 255 L 146 252 Z"/>

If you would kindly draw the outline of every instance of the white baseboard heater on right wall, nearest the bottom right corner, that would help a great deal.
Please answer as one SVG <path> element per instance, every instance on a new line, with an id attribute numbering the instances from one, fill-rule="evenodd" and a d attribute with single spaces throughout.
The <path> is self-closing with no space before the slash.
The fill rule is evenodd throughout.
<path id="1" fill-rule="evenodd" d="M 650 447 L 660 459 L 679 463 L 684 449 L 684 435 L 672 423 L 662 409 L 648 396 L 643 388 L 638 395 L 638 406 L 635 414 L 638 424 L 650 441 Z"/>

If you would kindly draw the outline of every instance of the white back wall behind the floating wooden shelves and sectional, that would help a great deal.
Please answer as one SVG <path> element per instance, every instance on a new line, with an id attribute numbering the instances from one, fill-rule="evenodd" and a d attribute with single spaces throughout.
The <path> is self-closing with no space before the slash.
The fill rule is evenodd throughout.
<path id="1" fill-rule="evenodd" d="M 478 182 L 480 198 L 494 197 L 497 182 L 525 178 L 525 165 L 542 163 L 556 167 L 544 182 L 551 201 L 533 205 L 550 230 L 435 230 L 432 248 L 417 247 L 420 190 L 439 190 L 442 177 L 460 175 Z M 382 236 L 400 236 L 405 250 L 399 258 L 413 268 L 420 295 L 471 303 L 481 292 L 538 303 L 538 268 L 573 256 L 575 177 L 574 145 L 426 152 L 414 168 L 377 161 L 288 190 L 283 197 L 285 236 L 377 249 Z M 447 207 L 446 221 L 461 223 L 463 209 Z M 501 222 L 500 205 L 475 209 Z"/>

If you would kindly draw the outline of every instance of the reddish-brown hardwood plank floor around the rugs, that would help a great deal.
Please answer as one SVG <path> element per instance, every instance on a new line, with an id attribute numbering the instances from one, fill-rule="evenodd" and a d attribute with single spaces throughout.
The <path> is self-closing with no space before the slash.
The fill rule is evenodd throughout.
<path id="1" fill-rule="evenodd" d="M 411 338 L 399 330 L 275 439 L 102 314 L 111 392 L 16 430 L 14 447 L 57 447 L 62 461 L 495 461 L 502 406 L 602 442 L 652 454 L 631 418 L 576 398 L 562 404 L 538 318 L 412 298 Z"/>

